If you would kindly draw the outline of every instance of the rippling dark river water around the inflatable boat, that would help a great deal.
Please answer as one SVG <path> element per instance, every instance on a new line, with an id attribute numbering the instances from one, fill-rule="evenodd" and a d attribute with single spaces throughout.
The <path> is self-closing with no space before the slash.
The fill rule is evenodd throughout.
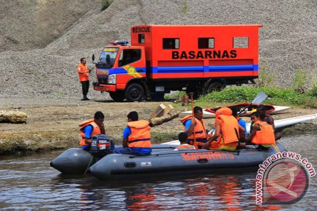
<path id="1" fill-rule="evenodd" d="M 284 137 L 317 170 L 317 134 Z M 49 166 L 62 151 L 0 157 L 0 210 L 317 210 L 317 179 L 292 205 L 255 204 L 256 168 L 140 181 L 66 177 Z"/>

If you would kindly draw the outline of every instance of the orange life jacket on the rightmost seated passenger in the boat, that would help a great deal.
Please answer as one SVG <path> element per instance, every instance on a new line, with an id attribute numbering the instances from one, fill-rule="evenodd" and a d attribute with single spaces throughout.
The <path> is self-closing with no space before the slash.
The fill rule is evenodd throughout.
<path id="1" fill-rule="evenodd" d="M 255 136 L 251 140 L 254 144 L 275 144 L 274 130 L 272 125 L 265 121 L 256 121 L 254 124 L 259 125 L 261 130 L 256 131 Z"/>

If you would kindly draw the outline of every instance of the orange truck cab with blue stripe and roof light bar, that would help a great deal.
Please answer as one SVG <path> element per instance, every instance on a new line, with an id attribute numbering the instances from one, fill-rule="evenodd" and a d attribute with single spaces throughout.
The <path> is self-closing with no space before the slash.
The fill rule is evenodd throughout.
<path id="1" fill-rule="evenodd" d="M 142 46 L 127 46 L 127 41 L 110 42 L 96 63 L 94 90 L 107 91 L 116 102 L 142 100 L 145 94 L 145 53 Z M 94 60 L 94 55 L 93 55 Z"/>

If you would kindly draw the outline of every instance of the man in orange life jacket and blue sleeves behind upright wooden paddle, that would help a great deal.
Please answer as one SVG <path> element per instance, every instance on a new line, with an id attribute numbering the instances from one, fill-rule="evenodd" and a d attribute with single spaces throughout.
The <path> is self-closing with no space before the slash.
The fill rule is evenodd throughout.
<path id="1" fill-rule="evenodd" d="M 195 148 L 201 149 L 204 143 L 207 142 L 207 130 L 203 119 L 203 109 L 199 106 L 194 107 L 194 118 L 192 115 L 184 116 L 181 119 L 184 133 L 188 135 L 188 144 L 194 144 L 195 133 Z"/>

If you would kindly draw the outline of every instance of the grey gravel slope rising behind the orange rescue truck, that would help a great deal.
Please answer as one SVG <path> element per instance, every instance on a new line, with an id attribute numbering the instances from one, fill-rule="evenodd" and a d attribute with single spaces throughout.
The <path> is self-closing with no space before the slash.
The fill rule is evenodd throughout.
<path id="1" fill-rule="evenodd" d="M 296 70 L 316 79 L 314 0 L 116 0 L 104 11 L 97 0 L 1 2 L 0 97 L 80 97 L 79 59 L 94 67 L 92 53 L 110 40 L 129 40 L 136 24 L 263 24 L 260 68 L 266 64 L 282 87 L 291 85 Z M 92 87 L 88 96 L 108 97 Z"/>

